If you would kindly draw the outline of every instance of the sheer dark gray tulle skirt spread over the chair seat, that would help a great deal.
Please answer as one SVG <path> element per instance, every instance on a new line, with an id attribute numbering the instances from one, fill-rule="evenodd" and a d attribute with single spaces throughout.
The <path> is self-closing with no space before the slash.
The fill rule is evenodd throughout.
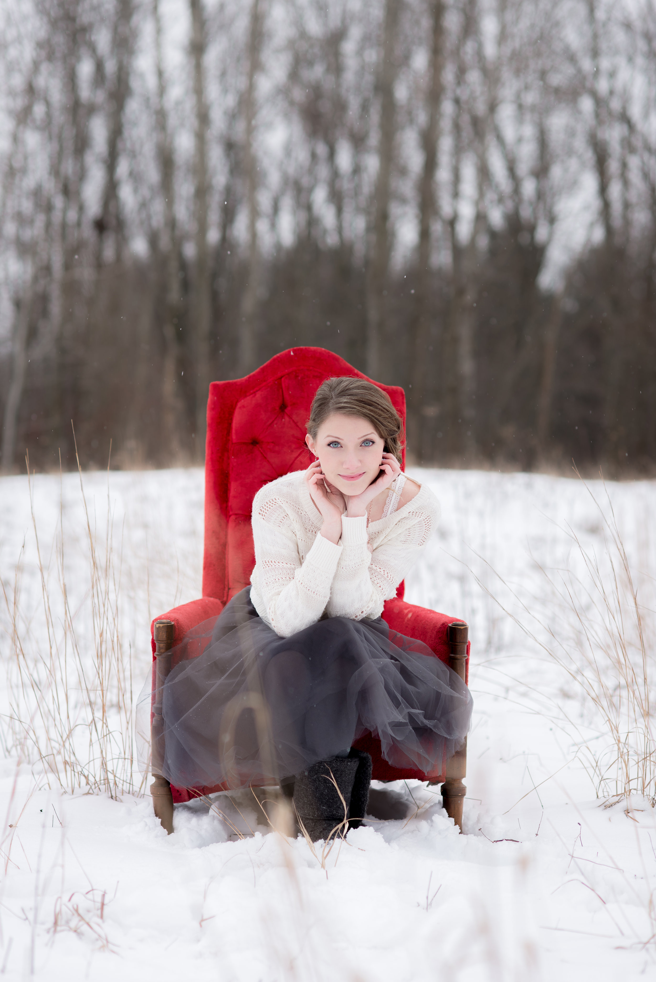
<path id="1" fill-rule="evenodd" d="M 367 731 L 394 767 L 427 773 L 462 744 L 471 718 L 465 683 L 422 641 L 382 618 L 328 618 L 280 637 L 249 587 L 194 627 L 172 664 L 152 749 L 180 788 L 277 782 Z M 154 695 L 148 682 L 142 709 Z"/>

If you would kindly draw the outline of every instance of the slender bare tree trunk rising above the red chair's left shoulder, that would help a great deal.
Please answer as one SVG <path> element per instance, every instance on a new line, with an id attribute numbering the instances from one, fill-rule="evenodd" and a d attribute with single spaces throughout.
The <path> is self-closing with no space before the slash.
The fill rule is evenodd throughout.
<path id="1" fill-rule="evenodd" d="M 255 327 L 259 294 L 259 246 L 257 243 L 257 158 L 253 146 L 257 112 L 257 76 L 260 69 L 264 10 L 263 0 L 252 0 L 248 28 L 247 76 L 244 93 L 244 178 L 248 221 L 247 279 L 242 296 L 239 370 L 247 375 L 255 367 Z"/>

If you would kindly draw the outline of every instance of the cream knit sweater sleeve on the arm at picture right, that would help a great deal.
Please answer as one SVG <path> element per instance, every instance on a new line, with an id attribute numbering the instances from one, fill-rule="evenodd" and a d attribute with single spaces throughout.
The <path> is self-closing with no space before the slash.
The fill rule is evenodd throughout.
<path id="1" fill-rule="evenodd" d="M 354 621 L 377 618 L 383 604 L 396 596 L 397 587 L 419 558 L 440 516 L 437 499 L 429 494 L 390 529 L 373 551 L 368 543 L 366 518 L 342 518 L 342 555 L 333 579 L 328 614 Z"/>

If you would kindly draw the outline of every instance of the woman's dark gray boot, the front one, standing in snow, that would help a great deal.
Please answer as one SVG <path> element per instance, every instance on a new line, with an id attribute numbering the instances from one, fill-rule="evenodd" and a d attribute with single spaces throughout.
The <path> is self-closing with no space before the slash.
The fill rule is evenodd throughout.
<path id="1" fill-rule="evenodd" d="M 319 760 L 297 776 L 294 786 L 294 805 L 302 825 L 313 843 L 346 832 L 349 805 L 359 766 L 357 757 L 331 757 Z M 331 780 L 335 779 L 345 805 Z M 341 828 L 340 828 L 341 826 Z"/>

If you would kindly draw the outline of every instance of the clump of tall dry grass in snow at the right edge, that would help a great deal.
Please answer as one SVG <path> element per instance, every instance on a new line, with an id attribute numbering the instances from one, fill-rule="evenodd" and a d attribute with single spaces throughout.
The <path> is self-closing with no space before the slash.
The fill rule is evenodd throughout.
<path id="1" fill-rule="evenodd" d="M 576 471 L 579 479 L 580 474 Z M 600 559 L 587 549 L 571 527 L 563 529 L 582 565 L 552 573 L 537 567 L 549 585 L 549 609 L 544 616 L 528 606 L 518 592 L 478 556 L 508 590 L 522 611 L 515 614 L 494 596 L 475 573 L 476 582 L 523 633 L 566 673 L 580 691 L 585 708 L 595 707 L 608 737 L 597 748 L 581 739 L 578 754 L 584 760 L 597 794 L 631 794 L 656 804 L 656 739 L 651 717 L 652 688 L 656 679 L 653 642 L 656 612 L 638 602 L 636 585 L 608 490 L 608 514 L 583 484 L 602 521 L 604 554 Z M 478 554 L 476 554 L 478 555 Z M 642 587 L 656 579 L 643 575 Z M 648 641 L 648 638 L 651 640 Z M 560 712 L 568 723 L 563 706 Z"/>

